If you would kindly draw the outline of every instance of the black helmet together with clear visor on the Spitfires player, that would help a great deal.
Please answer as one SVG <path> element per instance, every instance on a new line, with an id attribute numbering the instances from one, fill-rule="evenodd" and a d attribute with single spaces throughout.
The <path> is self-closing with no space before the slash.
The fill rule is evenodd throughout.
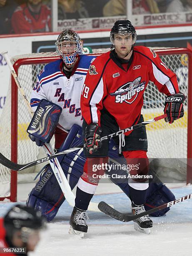
<path id="1" fill-rule="evenodd" d="M 126 44 L 132 46 L 137 40 L 137 33 L 129 20 L 117 20 L 111 29 L 110 41 L 113 45 L 120 45 L 123 38 L 125 38 Z"/>

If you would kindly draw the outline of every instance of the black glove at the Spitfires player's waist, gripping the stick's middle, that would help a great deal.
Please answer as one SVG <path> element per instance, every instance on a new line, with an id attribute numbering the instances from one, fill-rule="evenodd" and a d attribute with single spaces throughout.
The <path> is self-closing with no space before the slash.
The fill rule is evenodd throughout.
<path id="1" fill-rule="evenodd" d="M 97 148 L 102 146 L 100 141 L 100 135 L 102 129 L 99 127 L 98 123 L 91 123 L 87 125 L 85 129 L 85 143 L 87 151 L 92 154 L 93 151 L 97 151 Z"/>

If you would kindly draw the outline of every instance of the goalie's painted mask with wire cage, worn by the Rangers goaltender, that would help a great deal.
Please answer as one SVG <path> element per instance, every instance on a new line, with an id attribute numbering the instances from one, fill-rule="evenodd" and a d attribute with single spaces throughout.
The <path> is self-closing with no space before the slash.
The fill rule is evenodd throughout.
<path id="1" fill-rule="evenodd" d="M 55 43 L 57 54 L 66 66 L 74 63 L 77 54 L 82 54 L 82 41 L 80 36 L 71 29 L 62 31 Z"/>

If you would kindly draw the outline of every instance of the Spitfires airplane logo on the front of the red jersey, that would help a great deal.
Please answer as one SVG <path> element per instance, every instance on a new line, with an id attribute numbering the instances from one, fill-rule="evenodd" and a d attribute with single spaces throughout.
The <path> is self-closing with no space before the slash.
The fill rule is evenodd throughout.
<path id="1" fill-rule="evenodd" d="M 122 85 L 116 92 L 110 93 L 115 96 L 116 103 L 126 102 L 131 104 L 137 98 L 140 91 L 145 89 L 146 81 L 141 82 L 141 77 L 137 77 L 133 82 Z"/>

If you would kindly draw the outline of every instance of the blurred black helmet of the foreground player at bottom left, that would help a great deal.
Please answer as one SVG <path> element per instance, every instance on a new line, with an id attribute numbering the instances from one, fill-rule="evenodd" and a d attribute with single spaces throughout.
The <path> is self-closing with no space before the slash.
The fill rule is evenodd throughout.
<path id="1" fill-rule="evenodd" d="M 4 217 L 5 229 L 20 230 L 23 227 L 30 229 L 45 228 L 45 218 L 39 211 L 25 205 L 14 205 Z"/>

